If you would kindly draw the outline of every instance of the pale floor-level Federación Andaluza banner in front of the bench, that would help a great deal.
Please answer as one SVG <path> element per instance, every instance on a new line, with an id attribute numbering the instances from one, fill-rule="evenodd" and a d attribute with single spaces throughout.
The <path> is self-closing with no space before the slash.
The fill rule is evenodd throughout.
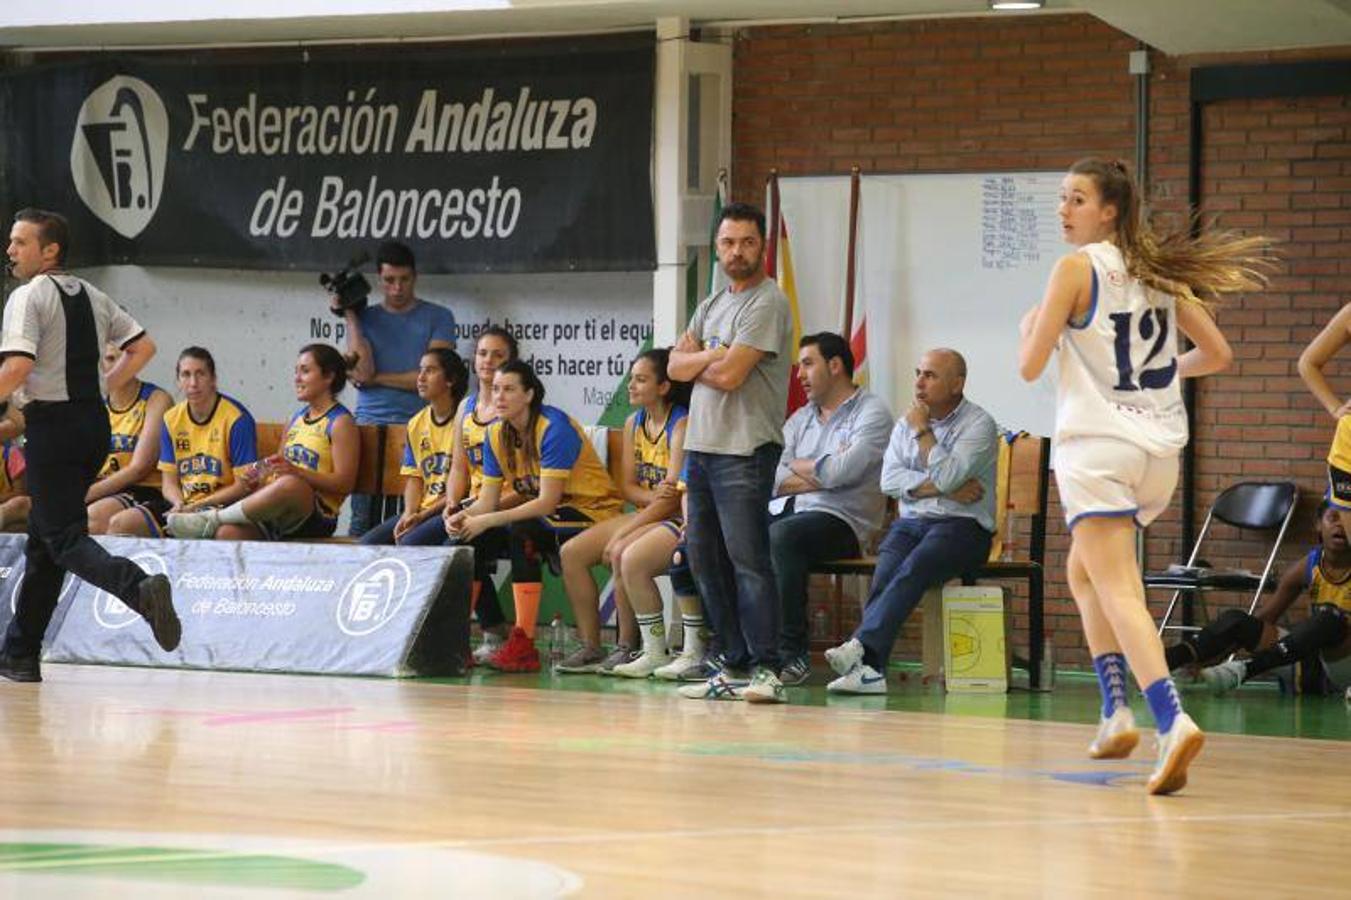
<path id="1" fill-rule="evenodd" d="M 0 568 L 12 561 L 0 542 Z M 165 653 L 120 600 L 68 580 L 47 662 L 317 674 L 457 674 L 469 645 L 473 550 L 99 538 L 173 584 L 182 643 Z M 12 584 L 22 576 L 8 574 Z M 9 591 L 4 618 L 16 596 Z"/>

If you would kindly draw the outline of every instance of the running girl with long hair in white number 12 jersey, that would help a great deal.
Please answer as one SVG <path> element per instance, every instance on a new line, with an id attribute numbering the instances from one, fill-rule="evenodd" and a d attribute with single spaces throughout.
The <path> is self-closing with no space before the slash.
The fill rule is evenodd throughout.
<path id="1" fill-rule="evenodd" d="M 1059 349 L 1055 480 L 1070 524 L 1069 582 L 1102 689 L 1093 758 L 1139 742 L 1127 705 L 1129 662 L 1159 730 L 1150 793 L 1171 793 L 1205 735 L 1182 712 L 1144 603 L 1135 527 L 1167 508 L 1188 441 L 1179 381 L 1225 369 L 1228 342 L 1210 318 L 1217 296 L 1266 284 L 1265 238 L 1219 231 L 1155 235 L 1125 165 L 1075 162 L 1061 188 L 1065 239 L 1020 326 L 1019 370 L 1031 381 Z M 1179 354 L 1181 330 L 1194 345 Z"/>

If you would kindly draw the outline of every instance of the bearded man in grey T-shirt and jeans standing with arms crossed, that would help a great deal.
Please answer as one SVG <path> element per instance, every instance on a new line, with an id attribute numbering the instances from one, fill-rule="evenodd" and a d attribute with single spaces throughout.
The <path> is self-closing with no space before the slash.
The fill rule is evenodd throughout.
<path id="1" fill-rule="evenodd" d="M 723 670 L 681 693 L 782 703 L 782 618 L 769 547 L 769 499 L 784 441 L 793 323 L 765 274 L 765 214 L 723 209 L 717 262 L 731 284 L 700 304 L 671 350 L 673 380 L 693 381 L 685 431 L 690 569 L 723 645 Z"/>

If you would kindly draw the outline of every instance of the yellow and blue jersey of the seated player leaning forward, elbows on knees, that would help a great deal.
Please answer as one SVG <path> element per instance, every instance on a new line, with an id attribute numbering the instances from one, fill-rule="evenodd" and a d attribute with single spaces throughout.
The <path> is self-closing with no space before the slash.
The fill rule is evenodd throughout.
<path id="1" fill-rule="evenodd" d="M 597 522 L 619 515 L 624 500 L 596 447 L 571 416 L 557 407 L 543 407 L 535 419 L 534 438 L 539 451 L 530 459 L 523 447 L 508 446 L 501 422 L 490 424 L 484 441 L 484 481 L 507 481 L 516 493 L 538 497 L 542 478 L 562 478 L 561 505 Z"/>

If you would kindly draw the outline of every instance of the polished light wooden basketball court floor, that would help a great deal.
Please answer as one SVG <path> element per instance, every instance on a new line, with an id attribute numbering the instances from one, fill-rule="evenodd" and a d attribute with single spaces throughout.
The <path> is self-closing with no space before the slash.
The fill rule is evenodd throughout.
<path id="1" fill-rule="evenodd" d="M 912 677 L 825 704 L 817 674 L 793 691 L 808 703 L 765 708 L 549 674 L 43 674 L 0 681 L 5 900 L 1348 889 L 1340 699 L 1189 693 L 1212 731 L 1192 784 L 1159 799 L 1148 738 L 1092 762 L 1090 726 L 1048 720 L 1090 720 L 1088 680 L 1005 700 Z M 1319 709 L 1324 739 L 1212 716 L 1252 704 Z"/>

